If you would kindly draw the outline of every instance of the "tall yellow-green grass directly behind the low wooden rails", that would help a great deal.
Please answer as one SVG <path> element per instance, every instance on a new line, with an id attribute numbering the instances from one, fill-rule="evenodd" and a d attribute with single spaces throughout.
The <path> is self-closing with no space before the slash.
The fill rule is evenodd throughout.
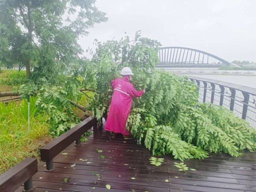
<path id="1" fill-rule="evenodd" d="M 48 137 L 48 116 L 38 111 L 36 98 L 30 99 L 30 130 L 27 101 L 0 103 L 0 174 L 26 157 L 38 157 L 38 147 Z"/>

